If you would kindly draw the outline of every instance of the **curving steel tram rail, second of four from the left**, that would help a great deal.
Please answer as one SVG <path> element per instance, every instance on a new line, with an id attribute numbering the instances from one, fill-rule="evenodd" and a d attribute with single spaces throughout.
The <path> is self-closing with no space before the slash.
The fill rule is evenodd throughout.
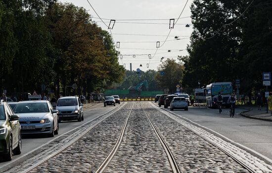
<path id="1" fill-rule="evenodd" d="M 106 157 L 106 159 L 104 160 L 104 162 L 100 165 L 100 167 L 98 167 L 98 169 L 95 171 L 95 173 L 102 173 L 106 167 L 108 166 L 108 164 L 110 163 L 111 159 L 113 158 L 113 156 L 115 155 L 115 153 L 117 152 L 121 142 L 122 142 L 122 139 L 123 139 L 123 136 L 124 136 L 124 133 L 125 133 L 125 130 L 127 128 L 127 124 L 128 124 L 128 120 L 130 118 L 130 115 L 133 111 L 133 108 L 134 108 L 134 104 L 135 102 L 133 102 L 133 106 L 132 106 L 132 109 L 131 109 L 131 112 L 130 114 L 127 116 L 126 120 L 125 120 L 125 123 L 121 129 L 121 132 L 120 132 L 120 135 L 117 139 L 117 142 L 116 144 L 114 145 L 114 147 L 112 148 L 111 152 L 109 153 L 109 155 Z"/>

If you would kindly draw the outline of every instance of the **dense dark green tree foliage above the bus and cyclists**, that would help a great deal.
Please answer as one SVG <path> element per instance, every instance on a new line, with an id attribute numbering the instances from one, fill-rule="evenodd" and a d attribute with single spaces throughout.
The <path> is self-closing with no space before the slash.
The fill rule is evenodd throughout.
<path id="1" fill-rule="evenodd" d="M 244 92 L 262 89 L 262 72 L 272 66 L 271 9 L 271 0 L 194 0 L 182 84 L 240 79 Z"/>

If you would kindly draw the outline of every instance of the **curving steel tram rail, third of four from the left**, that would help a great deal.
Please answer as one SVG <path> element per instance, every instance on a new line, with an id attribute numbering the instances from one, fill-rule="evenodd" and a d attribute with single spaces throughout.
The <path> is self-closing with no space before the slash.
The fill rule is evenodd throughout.
<path id="1" fill-rule="evenodd" d="M 141 107 L 142 107 L 142 104 L 141 104 Z M 154 129 L 154 132 L 156 133 L 157 137 L 159 138 L 165 152 L 166 152 L 166 155 L 168 157 L 168 160 L 170 162 L 170 165 L 171 165 L 171 168 L 173 170 L 173 173 L 180 173 L 180 170 L 179 170 L 179 167 L 176 163 L 176 160 L 173 156 L 173 154 L 171 153 L 171 150 L 170 148 L 168 147 L 168 145 L 166 144 L 166 142 L 164 141 L 163 137 L 161 136 L 161 134 L 159 133 L 159 130 L 157 129 L 157 127 L 155 126 L 155 124 L 152 122 L 152 120 L 150 119 L 149 115 L 146 114 L 146 112 L 144 111 L 143 107 L 142 107 L 142 111 L 144 112 L 144 114 L 146 115 L 146 117 L 148 118 L 151 126 L 153 127 Z"/>

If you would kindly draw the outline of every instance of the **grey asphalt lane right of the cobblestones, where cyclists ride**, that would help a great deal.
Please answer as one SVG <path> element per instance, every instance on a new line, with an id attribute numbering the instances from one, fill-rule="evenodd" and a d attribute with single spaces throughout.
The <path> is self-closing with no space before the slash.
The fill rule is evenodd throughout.
<path id="1" fill-rule="evenodd" d="M 230 118 L 228 111 L 229 109 L 226 108 L 219 114 L 218 109 L 189 107 L 188 111 L 174 110 L 172 112 L 214 130 L 272 160 L 272 122 L 240 116 L 238 114 L 245 111 L 240 108 L 236 108 L 236 115 Z"/>

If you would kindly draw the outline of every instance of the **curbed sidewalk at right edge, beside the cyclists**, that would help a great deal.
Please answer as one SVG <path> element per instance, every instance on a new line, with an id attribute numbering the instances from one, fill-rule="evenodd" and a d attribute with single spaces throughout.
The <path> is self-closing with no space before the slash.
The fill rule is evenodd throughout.
<path id="1" fill-rule="evenodd" d="M 258 107 L 255 105 L 252 105 L 252 106 L 239 105 L 238 107 L 247 109 L 247 111 L 240 113 L 240 115 L 244 117 L 260 119 L 265 121 L 272 121 L 272 115 L 270 115 L 270 110 L 268 110 L 268 114 L 267 114 L 267 110 L 266 110 L 267 108 L 265 106 L 261 108 L 261 111 L 258 111 Z"/>

